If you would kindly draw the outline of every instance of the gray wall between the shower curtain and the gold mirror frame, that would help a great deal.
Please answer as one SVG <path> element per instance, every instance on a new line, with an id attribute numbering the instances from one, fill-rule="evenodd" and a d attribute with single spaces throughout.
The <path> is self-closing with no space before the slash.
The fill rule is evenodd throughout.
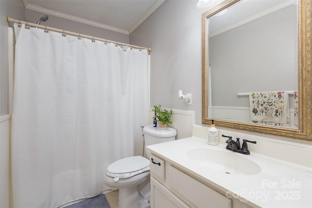
<path id="1" fill-rule="evenodd" d="M 135 31 L 130 43 L 151 47 L 151 107 L 195 111 L 201 124 L 201 13 L 197 0 L 166 0 Z M 192 105 L 177 98 L 192 93 Z"/>

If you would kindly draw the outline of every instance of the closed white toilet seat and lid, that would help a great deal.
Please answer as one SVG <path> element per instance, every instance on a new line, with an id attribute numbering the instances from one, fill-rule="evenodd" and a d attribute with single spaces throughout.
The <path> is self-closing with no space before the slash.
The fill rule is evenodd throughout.
<path id="1" fill-rule="evenodd" d="M 105 175 L 118 181 L 150 170 L 150 161 L 142 156 L 126 157 L 115 161 L 107 167 Z"/>

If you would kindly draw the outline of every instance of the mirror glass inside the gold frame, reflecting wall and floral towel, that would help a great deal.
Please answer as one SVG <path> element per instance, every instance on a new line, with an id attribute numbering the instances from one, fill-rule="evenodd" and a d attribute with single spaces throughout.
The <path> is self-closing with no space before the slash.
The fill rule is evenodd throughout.
<path id="1" fill-rule="evenodd" d="M 296 0 L 239 1 L 224 11 L 207 21 L 208 117 L 296 127 Z M 250 92 L 274 93 L 256 96 L 251 111 Z"/>

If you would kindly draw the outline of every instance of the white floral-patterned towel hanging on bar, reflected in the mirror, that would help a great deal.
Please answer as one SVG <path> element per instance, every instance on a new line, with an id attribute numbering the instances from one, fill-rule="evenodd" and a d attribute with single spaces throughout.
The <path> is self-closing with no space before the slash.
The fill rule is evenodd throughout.
<path id="1" fill-rule="evenodd" d="M 285 92 L 251 93 L 250 116 L 254 123 L 273 122 L 276 126 L 287 124 L 288 94 Z"/>

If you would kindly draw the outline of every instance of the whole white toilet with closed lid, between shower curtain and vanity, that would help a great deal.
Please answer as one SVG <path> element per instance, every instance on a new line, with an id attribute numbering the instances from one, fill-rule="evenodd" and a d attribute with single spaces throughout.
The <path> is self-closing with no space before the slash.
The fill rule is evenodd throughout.
<path id="1" fill-rule="evenodd" d="M 145 146 L 173 141 L 176 130 L 148 125 L 144 132 L 144 157 L 132 156 L 115 161 L 105 170 L 107 186 L 119 189 L 118 208 L 150 207 L 150 152 Z"/>

